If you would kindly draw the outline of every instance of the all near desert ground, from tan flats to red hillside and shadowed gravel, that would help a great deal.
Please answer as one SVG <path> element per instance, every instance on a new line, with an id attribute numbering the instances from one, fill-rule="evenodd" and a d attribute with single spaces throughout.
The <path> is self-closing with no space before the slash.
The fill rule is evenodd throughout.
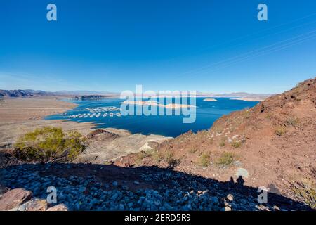
<path id="1" fill-rule="evenodd" d="M 49 101 L 53 104 L 43 104 L 43 98 L 4 99 L 0 153 L 10 149 L 20 135 L 41 126 L 79 131 L 88 146 L 74 161 L 62 164 L 11 163 L 6 160 L 10 155 L 0 154 L 0 191 L 4 193 L 0 193 L 0 205 L 4 210 L 51 209 L 43 200 L 15 201 L 17 195 L 31 194 L 44 199 L 47 186 L 58 186 L 59 210 L 285 211 L 316 207 L 316 79 L 254 108 L 225 115 L 208 130 L 174 139 L 96 129 L 91 123 L 42 120 L 75 106 Z M 25 104 L 23 119 L 13 113 L 17 121 L 9 116 L 10 110 L 23 110 L 16 103 Z M 258 187 L 269 192 L 268 203 L 258 203 Z"/>

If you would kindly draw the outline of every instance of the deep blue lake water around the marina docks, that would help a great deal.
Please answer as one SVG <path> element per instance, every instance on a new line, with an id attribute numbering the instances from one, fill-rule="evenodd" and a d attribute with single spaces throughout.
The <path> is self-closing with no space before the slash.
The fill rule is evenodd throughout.
<path id="1" fill-rule="evenodd" d="M 217 101 L 203 101 L 205 98 L 196 98 L 196 120 L 194 123 L 183 123 L 183 115 L 126 115 L 117 117 L 86 117 L 69 118 L 70 115 L 90 113 L 87 108 L 101 108 L 114 106 L 121 107 L 121 99 L 102 99 L 89 101 L 72 101 L 77 103 L 77 108 L 67 111 L 67 115 L 51 115 L 47 120 L 72 120 L 76 122 L 94 122 L 98 128 L 113 127 L 127 129 L 131 133 L 160 134 L 163 136 L 178 136 L 187 131 L 209 129 L 213 122 L 222 115 L 227 115 L 235 110 L 251 108 L 258 102 L 231 100 L 230 98 L 216 98 Z M 190 102 L 189 102 L 190 104 Z"/>

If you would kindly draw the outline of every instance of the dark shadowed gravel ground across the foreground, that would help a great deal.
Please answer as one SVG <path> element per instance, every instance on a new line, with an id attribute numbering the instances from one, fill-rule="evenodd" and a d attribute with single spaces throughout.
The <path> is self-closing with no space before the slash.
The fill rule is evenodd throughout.
<path id="1" fill-rule="evenodd" d="M 15 165 L 0 169 L 0 180 L 44 199 L 55 186 L 58 204 L 70 210 L 310 210 L 273 193 L 261 205 L 256 188 L 157 167 Z"/>

